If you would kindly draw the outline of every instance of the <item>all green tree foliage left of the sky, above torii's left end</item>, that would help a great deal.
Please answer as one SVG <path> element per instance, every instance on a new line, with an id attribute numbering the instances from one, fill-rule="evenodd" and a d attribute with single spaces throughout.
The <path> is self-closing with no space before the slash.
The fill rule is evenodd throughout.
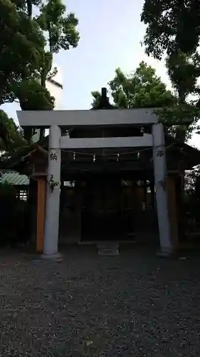
<path id="1" fill-rule="evenodd" d="M 39 11 L 35 18 L 33 6 Z M 61 0 L 0 0 L 0 13 L 0 105 L 19 99 L 22 110 L 52 110 L 55 100 L 46 89 L 46 79 L 56 75 L 53 54 L 78 45 L 78 19 L 65 15 Z M 26 130 L 29 143 L 32 134 Z M 3 125 L 0 137 L 7 149 L 18 138 L 11 140 L 10 130 Z"/>

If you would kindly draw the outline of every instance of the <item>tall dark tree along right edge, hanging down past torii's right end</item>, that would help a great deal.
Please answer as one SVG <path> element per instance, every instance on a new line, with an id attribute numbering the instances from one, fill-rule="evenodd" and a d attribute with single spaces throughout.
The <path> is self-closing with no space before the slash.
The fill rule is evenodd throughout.
<path id="1" fill-rule="evenodd" d="M 175 107 L 160 111 L 160 116 L 165 124 L 177 125 L 177 138 L 181 140 L 199 119 L 198 101 L 188 99 L 189 94 L 199 94 L 199 11 L 199 1 L 145 0 L 141 15 L 147 25 L 146 53 L 159 60 L 167 54 L 168 74 L 178 101 Z"/>

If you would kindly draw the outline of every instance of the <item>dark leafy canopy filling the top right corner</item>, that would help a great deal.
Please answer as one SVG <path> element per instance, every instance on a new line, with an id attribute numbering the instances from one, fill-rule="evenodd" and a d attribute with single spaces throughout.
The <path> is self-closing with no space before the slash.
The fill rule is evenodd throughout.
<path id="1" fill-rule="evenodd" d="M 147 26 L 147 54 L 161 59 L 181 51 L 193 54 L 199 45 L 200 2 L 194 0 L 145 0 L 141 20 Z"/>

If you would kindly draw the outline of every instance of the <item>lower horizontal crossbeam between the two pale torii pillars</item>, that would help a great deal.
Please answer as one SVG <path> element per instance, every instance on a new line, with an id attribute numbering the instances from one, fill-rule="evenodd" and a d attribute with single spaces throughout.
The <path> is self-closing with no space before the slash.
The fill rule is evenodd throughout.
<path id="1" fill-rule="evenodd" d="M 60 149 L 110 149 L 110 148 L 137 148 L 152 146 L 152 135 L 125 137 L 125 138 L 79 138 L 70 139 L 62 136 Z"/>

